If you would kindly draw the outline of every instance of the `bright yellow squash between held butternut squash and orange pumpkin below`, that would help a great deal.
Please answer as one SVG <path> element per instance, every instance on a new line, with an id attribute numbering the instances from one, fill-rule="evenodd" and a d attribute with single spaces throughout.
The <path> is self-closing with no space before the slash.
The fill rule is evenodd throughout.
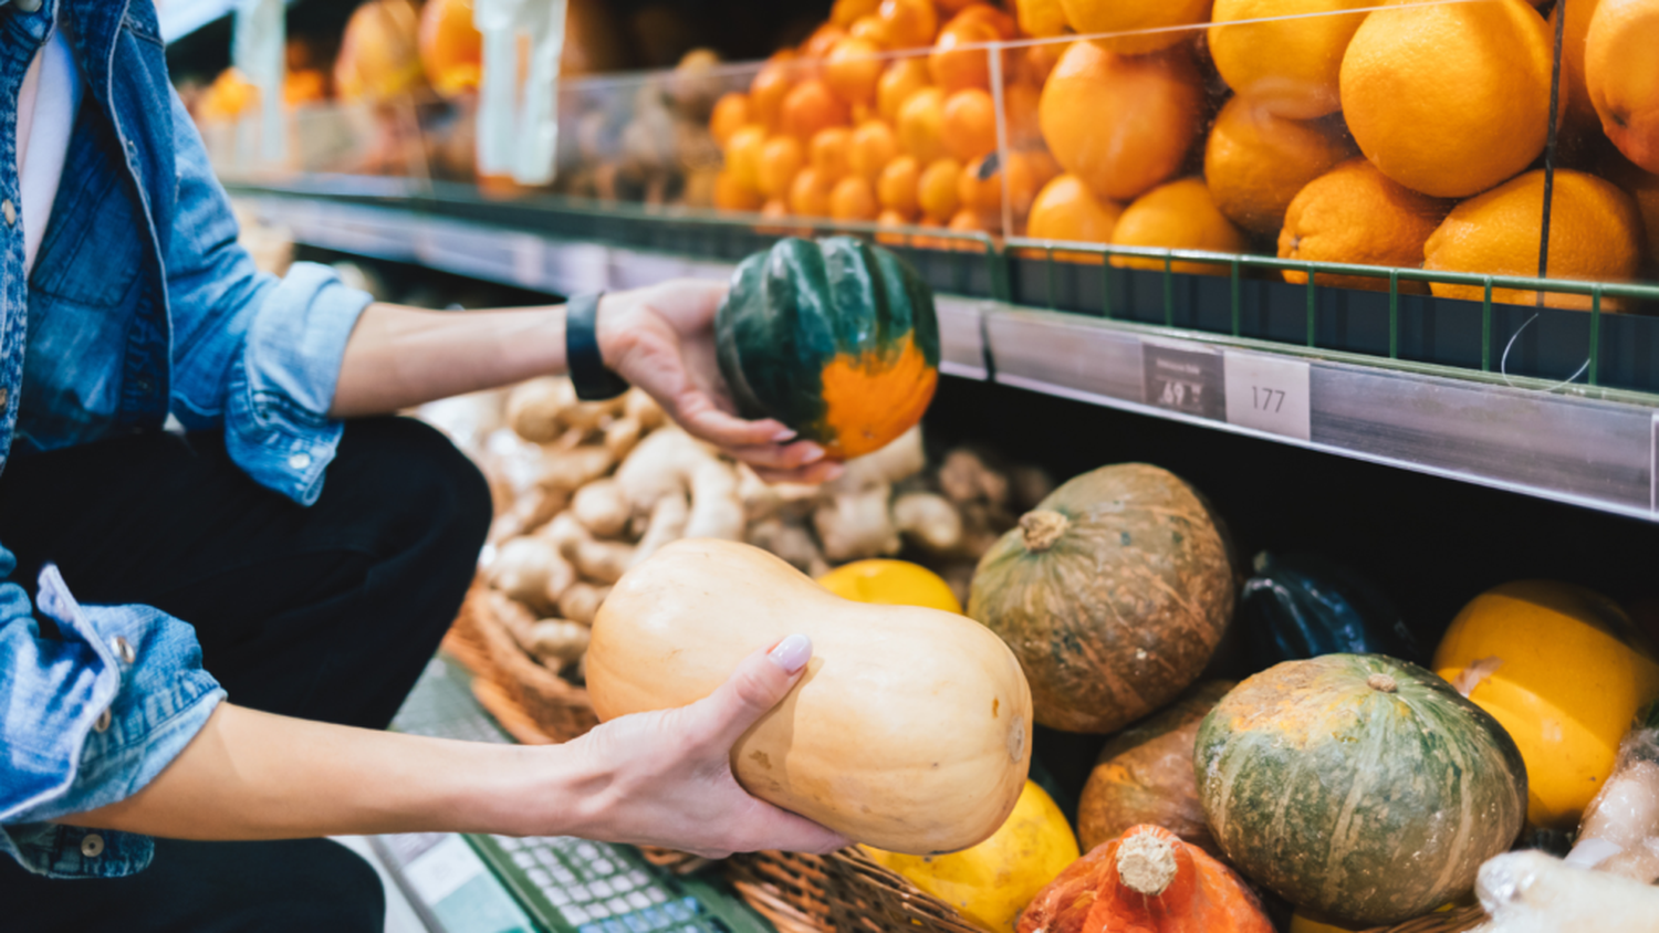
<path id="1" fill-rule="evenodd" d="M 1014 933 L 1025 905 L 1078 857 L 1060 807 L 1032 781 L 1002 829 L 972 848 L 931 857 L 866 852 L 990 933 Z"/>

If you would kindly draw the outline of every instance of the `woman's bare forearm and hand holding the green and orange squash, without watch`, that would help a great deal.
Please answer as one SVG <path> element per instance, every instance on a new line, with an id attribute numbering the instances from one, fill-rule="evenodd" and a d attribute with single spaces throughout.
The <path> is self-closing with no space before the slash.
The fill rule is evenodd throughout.
<path id="1" fill-rule="evenodd" d="M 841 467 L 773 419 L 733 414 L 715 361 L 713 320 L 727 287 L 680 280 L 606 295 L 599 353 L 690 434 L 765 479 L 823 482 Z M 423 312 L 370 305 L 345 345 L 333 418 L 385 414 L 426 401 L 564 373 L 564 305 Z"/>

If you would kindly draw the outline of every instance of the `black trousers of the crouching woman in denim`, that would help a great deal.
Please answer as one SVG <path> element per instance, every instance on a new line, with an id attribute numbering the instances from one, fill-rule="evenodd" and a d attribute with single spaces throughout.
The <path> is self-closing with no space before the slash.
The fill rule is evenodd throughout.
<path id="1" fill-rule="evenodd" d="M 83 603 L 196 628 L 231 703 L 385 728 L 460 608 L 489 524 L 473 464 L 425 424 L 347 424 L 319 500 L 254 484 L 217 434 L 17 457 L 0 542 L 30 592 L 56 563 Z M 382 928 L 373 870 L 327 840 L 158 842 L 149 868 L 48 880 L 0 858 L 3 930 Z"/>

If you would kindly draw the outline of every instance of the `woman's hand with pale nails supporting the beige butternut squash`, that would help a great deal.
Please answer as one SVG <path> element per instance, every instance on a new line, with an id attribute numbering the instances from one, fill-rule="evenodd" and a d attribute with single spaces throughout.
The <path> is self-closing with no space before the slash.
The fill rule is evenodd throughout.
<path id="1" fill-rule="evenodd" d="M 708 858 L 781 848 L 833 852 L 848 840 L 752 797 L 732 776 L 732 746 L 801 678 L 813 646 L 791 635 L 750 655 L 713 694 L 690 706 L 622 716 L 562 746 L 581 756 L 589 787 L 577 835 L 662 845 Z"/>

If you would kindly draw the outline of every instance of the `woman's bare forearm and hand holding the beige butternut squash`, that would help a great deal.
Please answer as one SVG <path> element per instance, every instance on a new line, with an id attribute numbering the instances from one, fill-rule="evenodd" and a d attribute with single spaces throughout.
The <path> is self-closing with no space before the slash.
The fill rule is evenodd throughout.
<path id="1" fill-rule="evenodd" d="M 148 787 L 60 822 L 173 839 L 388 832 L 581 835 L 700 855 L 846 844 L 750 797 L 737 739 L 800 679 L 801 636 L 757 651 L 707 699 L 561 746 L 375 732 L 221 704 Z"/>

